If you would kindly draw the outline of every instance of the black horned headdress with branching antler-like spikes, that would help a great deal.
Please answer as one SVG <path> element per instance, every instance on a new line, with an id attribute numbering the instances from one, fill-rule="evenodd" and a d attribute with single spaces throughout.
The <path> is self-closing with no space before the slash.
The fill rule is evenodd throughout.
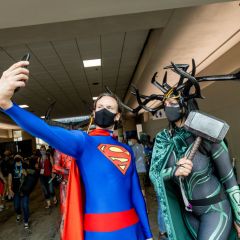
<path id="1" fill-rule="evenodd" d="M 191 72 L 187 72 L 188 68 L 188 64 L 174 64 L 171 62 L 171 65 L 164 69 L 170 69 L 180 76 L 177 84 L 170 86 L 167 83 L 167 71 L 163 77 L 162 84 L 159 83 L 156 80 L 156 72 L 152 77 L 151 83 L 161 90 L 162 94 L 151 94 L 150 96 L 142 95 L 135 86 L 131 86 L 131 93 L 136 97 L 138 106 L 136 108 L 130 108 L 123 103 L 122 106 L 133 113 L 138 113 L 141 109 L 144 109 L 154 114 L 164 107 L 164 101 L 168 98 L 179 99 L 180 103 L 183 105 L 190 99 L 203 98 L 199 84 L 200 82 L 240 80 L 240 72 L 236 74 L 195 77 L 196 64 L 194 59 L 192 59 Z M 107 91 L 111 92 L 108 88 Z M 157 107 L 151 108 L 147 106 L 147 104 L 156 100 L 159 101 Z"/>

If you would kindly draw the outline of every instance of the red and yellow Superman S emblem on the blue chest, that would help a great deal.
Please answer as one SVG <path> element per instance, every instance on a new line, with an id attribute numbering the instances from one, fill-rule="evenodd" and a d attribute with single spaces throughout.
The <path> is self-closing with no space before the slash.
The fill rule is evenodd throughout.
<path id="1" fill-rule="evenodd" d="M 127 172 L 131 163 L 131 154 L 124 147 L 111 144 L 100 144 L 98 149 L 122 174 Z"/>

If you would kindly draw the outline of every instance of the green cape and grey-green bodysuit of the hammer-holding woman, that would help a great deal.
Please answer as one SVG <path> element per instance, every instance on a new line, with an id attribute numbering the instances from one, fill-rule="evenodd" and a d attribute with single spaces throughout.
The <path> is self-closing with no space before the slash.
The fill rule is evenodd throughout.
<path id="1" fill-rule="evenodd" d="M 227 232 L 230 232 L 232 225 L 232 214 L 231 212 L 227 212 L 231 211 L 231 209 L 225 193 L 222 194 L 222 199 L 217 203 L 214 202 L 203 207 L 193 206 L 192 213 L 184 210 L 181 195 L 177 193 L 177 189 L 179 188 L 176 184 L 179 185 L 179 180 L 175 177 L 174 173 L 177 168 L 176 162 L 189 151 L 193 141 L 194 137 L 191 133 L 183 128 L 175 128 L 173 136 L 165 129 L 156 137 L 150 168 L 150 178 L 161 202 L 168 238 L 170 240 L 188 240 L 207 239 L 206 237 L 208 236 L 208 239 L 235 239 L 234 233 L 231 233 L 231 237 L 226 238 L 226 236 L 224 236 L 225 233 L 229 235 Z M 218 196 L 221 191 L 223 191 L 222 184 L 224 184 L 234 211 L 235 221 L 240 223 L 240 213 L 238 212 L 240 209 L 238 204 L 240 191 L 235 176 L 233 175 L 227 148 L 224 143 L 211 144 L 204 142 L 203 145 L 205 149 L 204 154 L 201 152 L 196 154 L 193 159 L 192 173 L 183 181 L 186 195 L 190 202 L 196 199 L 199 193 L 200 195 L 197 196 L 197 199 L 210 199 Z M 209 156 L 206 156 L 208 152 Z M 215 170 L 221 175 L 220 181 L 216 180 Z M 208 194 L 206 194 L 206 186 L 208 186 Z M 208 217 L 210 220 L 208 228 L 211 228 L 211 223 L 215 224 L 216 227 L 213 226 L 214 230 L 211 233 L 207 232 L 207 228 L 204 229 L 202 233 L 199 233 L 199 231 L 201 231 L 201 229 L 199 229 L 200 224 L 206 221 L 203 217 L 213 212 L 216 212 L 218 216 Z M 191 219 L 194 215 L 196 215 L 199 220 L 197 220 L 199 224 L 197 227 L 194 221 L 192 221 L 193 219 Z M 198 234 L 202 235 L 202 237 L 199 238 Z"/>

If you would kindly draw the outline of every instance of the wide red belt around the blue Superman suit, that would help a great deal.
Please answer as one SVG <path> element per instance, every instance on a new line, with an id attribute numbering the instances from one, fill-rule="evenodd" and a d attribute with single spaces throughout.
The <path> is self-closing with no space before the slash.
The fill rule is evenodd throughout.
<path id="1" fill-rule="evenodd" d="M 84 230 L 89 232 L 112 232 L 136 224 L 139 221 L 135 209 L 115 213 L 84 215 Z"/>

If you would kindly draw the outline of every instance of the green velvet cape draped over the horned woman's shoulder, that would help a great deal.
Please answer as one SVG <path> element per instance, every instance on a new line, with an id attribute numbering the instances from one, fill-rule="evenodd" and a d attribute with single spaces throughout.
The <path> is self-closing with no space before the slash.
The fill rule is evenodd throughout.
<path id="1" fill-rule="evenodd" d="M 185 139 L 190 135 L 189 132 L 181 128 L 176 130 L 174 137 L 171 137 L 169 131 L 164 129 L 157 134 L 154 144 L 149 175 L 159 197 L 169 240 L 194 239 L 183 220 L 182 211 L 184 209 L 183 206 L 180 206 L 181 196 L 176 195 L 176 187 L 174 188 L 172 181 L 164 181 L 161 174 L 173 150 L 177 159 L 184 156 L 188 149 Z M 228 240 L 234 239 L 237 238 L 233 230 Z"/>

